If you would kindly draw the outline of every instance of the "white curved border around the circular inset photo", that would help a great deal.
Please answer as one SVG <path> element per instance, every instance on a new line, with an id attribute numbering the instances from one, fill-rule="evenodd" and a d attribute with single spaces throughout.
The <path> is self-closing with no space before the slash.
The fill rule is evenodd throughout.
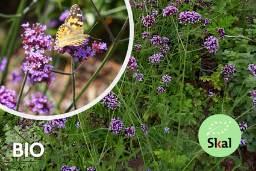
<path id="1" fill-rule="evenodd" d="M 81 107 L 81 108 L 79 108 L 75 111 L 70 111 L 69 113 L 57 114 L 57 115 L 52 115 L 52 116 L 36 116 L 36 115 L 31 115 L 31 114 L 20 113 L 19 111 L 11 110 L 10 108 L 5 107 L 2 104 L 0 104 L 0 108 L 4 111 L 7 111 L 10 114 L 13 114 L 13 115 L 19 116 L 19 117 L 24 117 L 24 118 L 27 118 L 27 119 L 53 120 L 53 119 L 61 119 L 61 118 L 64 118 L 64 117 L 70 117 L 70 116 L 73 116 L 75 114 L 82 113 L 83 111 L 89 109 L 90 107 L 92 107 L 93 105 L 95 105 L 99 101 L 101 101 L 101 99 L 104 98 L 114 88 L 114 86 L 117 84 L 117 82 L 119 81 L 119 79 L 123 75 L 123 72 L 126 69 L 126 66 L 128 64 L 128 61 L 129 61 L 129 58 L 130 58 L 130 55 L 131 55 L 131 51 L 132 51 L 132 48 L 133 48 L 133 40 L 134 40 L 133 13 L 131 11 L 131 5 L 130 5 L 128 0 L 125 0 L 125 5 L 126 5 L 126 8 L 127 8 L 128 17 L 129 17 L 129 25 L 130 25 L 130 37 L 129 37 L 129 44 L 128 44 L 128 49 L 127 49 L 127 52 L 126 52 L 125 60 L 123 61 L 123 65 L 122 65 L 121 69 L 119 70 L 119 73 L 117 73 L 116 78 L 114 78 L 114 81 L 108 86 L 108 88 L 101 95 L 98 96 L 98 98 L 94 99 L 89 104 L 87 104 L 84 107 Z"/>

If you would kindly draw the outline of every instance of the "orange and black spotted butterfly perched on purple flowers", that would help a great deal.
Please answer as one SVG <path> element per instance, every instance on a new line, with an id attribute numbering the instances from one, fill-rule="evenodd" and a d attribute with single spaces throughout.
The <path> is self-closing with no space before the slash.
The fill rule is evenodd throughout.
<path id="1" fill-rule="evenodd" d="M 58 47 L 63 46 L 81 46 L 86 43 L 90 35 L 84 34 L 83 17 L 77 4 L 70 9 L 63 25 L 58 28 L 55 44 Z"/>

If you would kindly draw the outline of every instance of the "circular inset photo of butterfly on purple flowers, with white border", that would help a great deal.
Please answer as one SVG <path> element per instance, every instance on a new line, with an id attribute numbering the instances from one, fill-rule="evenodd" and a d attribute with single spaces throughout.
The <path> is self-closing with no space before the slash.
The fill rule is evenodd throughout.
<path id="1" fill-rule="evenodd" d="M 1 28 L 0 108 L 37 120 L 81 113 L 108 96 L 128 64 L 130 4 L 33 3 Z"/>

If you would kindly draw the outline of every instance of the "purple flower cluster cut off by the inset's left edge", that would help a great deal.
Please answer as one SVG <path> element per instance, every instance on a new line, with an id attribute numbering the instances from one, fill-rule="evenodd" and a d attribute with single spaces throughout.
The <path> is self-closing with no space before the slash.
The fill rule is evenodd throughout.
<path id="1" fill-rule="evenodd" d="M 0 87 L 0 103 L 5 107 L 16 110 L 17 98 L 16 92 L 11 89 L 5 89 L 4 85 Z"/>

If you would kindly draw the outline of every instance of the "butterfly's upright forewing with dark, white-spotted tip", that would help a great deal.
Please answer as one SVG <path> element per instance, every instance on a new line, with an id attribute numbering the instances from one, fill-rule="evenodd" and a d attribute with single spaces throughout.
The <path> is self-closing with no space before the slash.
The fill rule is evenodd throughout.
<path id="1" fill-rule="evenodd" d="M 80 7 L 74 4 L 65 20 L 66 25 L 72 29 L 76 34 L 84 34 L 83 17 Z"/>

